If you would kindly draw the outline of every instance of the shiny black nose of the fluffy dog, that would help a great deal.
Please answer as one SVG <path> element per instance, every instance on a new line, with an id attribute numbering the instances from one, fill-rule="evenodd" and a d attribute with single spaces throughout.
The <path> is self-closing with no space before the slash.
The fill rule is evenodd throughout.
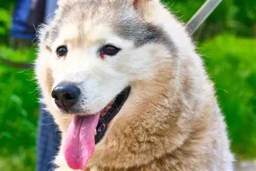
<path id="1" fill-rule="evenodd" d="M 74 84 L 61 82 L 53 89 L 52 98 L 58 108 L 68 110 L 75 104 L 79 94 L 80 89 Z"/>

